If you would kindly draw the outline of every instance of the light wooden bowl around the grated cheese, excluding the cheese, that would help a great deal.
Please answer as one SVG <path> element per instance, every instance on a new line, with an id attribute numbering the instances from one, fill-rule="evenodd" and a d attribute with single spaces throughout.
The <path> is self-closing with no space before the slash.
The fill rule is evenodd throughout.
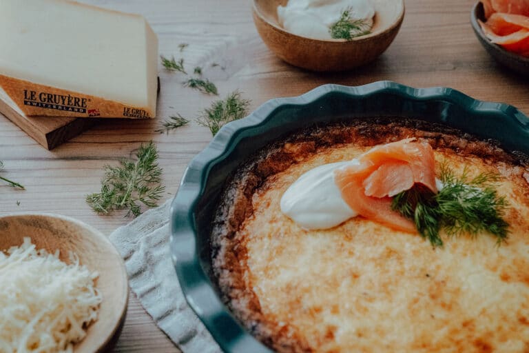
<path id="1" fill-rule="evenodd" d="M 65 216 L 52 214 L 12 214 L 0 217 L 0 250 L 19 246 L 30 236 L 37 249 L 61 251 L 68 262 L 70 251 L 79 256 L 82 265 L 97 271 L 97 288 L 103 296 L 98 319 L 88 327 L 83 341 L 74 346 L 75 353 L 104 352 L 116 342 L 127 312 L 127 272 L 121 256 L 107 237 L 94 228 Z"/>

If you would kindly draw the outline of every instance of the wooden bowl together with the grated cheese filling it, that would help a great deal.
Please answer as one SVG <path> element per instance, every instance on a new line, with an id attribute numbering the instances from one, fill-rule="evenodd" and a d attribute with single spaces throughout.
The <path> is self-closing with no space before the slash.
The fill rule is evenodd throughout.
<path id="1" fill-rule="evenodd" d="M 98 230 L 65 216 L 0 217 L 0 352 L 110 349 L 125 321 L 123 259 Z"/>

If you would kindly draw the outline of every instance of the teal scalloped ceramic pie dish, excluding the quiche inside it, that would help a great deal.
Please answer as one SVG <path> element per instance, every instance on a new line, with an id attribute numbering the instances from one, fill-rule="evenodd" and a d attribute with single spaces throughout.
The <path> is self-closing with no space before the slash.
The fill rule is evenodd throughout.
<path id="1" fill-rule="evenodd" d="M 477 101 L 451 88 L 380 81 L 322 85 L 272 99 L 227 124 L 189 163 L 171 209 L 171 252 L 187 302 L 225 352 L 270 352 L 229 312 L 211 271 L 211 221 L 229 175 L 258 150 L 312 125 L 402 117 L 447 125 L 511 152 L 529 154 L 529 119 L 512 105 Z"/>

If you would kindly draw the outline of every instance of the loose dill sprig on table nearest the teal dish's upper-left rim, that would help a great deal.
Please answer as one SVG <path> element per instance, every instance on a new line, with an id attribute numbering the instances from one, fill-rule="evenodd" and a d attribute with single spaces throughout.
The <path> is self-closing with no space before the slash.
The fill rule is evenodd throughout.
<path id="1" fill-rule="evenodd" d="M 242 99 L 239 91 L 231 92 L 225 99 L 214 101 L 210 108 L 206 108 L 196 121 L 206 126 L 215 134 L 230 121 L 238 120 L 248 114 L 250 101 Z"/>

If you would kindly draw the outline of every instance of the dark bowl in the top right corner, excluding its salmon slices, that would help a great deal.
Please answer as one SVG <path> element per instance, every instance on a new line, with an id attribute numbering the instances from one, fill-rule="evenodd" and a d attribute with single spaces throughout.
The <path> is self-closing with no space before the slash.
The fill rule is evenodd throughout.
<path id="1" fill-rule="evenodd" d="M 479 26 L 479 23 L 477 22 L 478 19 L 482 22 L 486 21 L 483 3 L 480 1 L 474 5 L 472 12 L 470 13 L 470 23 L 472 24 L 477 39 L 479 39 L 479 43 L 481 43 L 488 54 L 490 54 L 490 56 L 501 65 L 504 65 L 506 68 L 510 68 L 519 74 L 529 76 L 529 57 L 522 57 L 519 54 L 509 52 L 504 48 L 501 48 L 501 46 L 492 43 L 483 30 L 481 30 L 481 26 Z"/>

